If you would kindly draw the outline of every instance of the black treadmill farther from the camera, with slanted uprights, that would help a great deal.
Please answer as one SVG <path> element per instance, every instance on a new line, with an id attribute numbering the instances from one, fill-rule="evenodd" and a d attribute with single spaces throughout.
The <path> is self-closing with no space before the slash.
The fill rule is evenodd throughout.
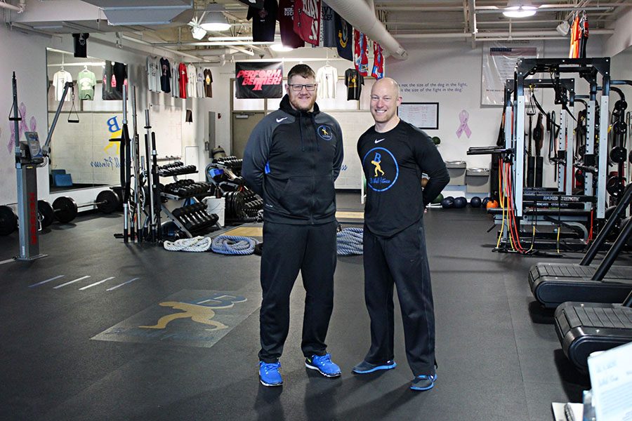
<path id="1" fill-rule="evenodd" d="M 591 262 L 612 231 L 618 215 L 624 215 L 631 201 L 632 183 L 626 186 L 617 208 L 579 264 L 541 262 L 529 269 L 529 286 L 541 305 L 555 308 L 567 301 L 603 302 L 608 305 L 624 302 L 632 291 L 632 267 L 612 264 L 632 232 L 632 222 L 622 227 L 600 265 L 591 265 Z"/>

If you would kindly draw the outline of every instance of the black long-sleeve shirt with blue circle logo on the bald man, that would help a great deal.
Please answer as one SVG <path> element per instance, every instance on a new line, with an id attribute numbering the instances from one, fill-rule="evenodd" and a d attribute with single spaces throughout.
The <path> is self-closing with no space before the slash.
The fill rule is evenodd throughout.
<path id="1" fill-rule="evenodd" d="M 423 218 L 430 203 L 450 180 L 433 141 L 405 121 L 385 133 L 369 128 L 357 141 L 367 179 L 364 224 L 378 236 L 393 236 Z M 430 180 L 421 189 L 421 174 Z"/>

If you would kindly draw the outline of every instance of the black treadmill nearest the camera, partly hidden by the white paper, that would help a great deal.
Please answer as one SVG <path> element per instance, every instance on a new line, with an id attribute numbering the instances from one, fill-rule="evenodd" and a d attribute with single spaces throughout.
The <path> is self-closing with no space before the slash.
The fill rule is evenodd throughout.
<path id="1" fill-rule="evenodd" d="M 622 304 L 563 303 L 555 309 L 555 333 L 567 358 L 587 371 L 592 352 L 632 342 L 632 293 Z"/>

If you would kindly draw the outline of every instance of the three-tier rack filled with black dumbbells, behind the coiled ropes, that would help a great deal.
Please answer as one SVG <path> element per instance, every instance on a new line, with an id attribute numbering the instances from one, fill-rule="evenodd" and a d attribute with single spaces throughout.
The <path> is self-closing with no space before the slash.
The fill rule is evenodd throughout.
<path id="1" fill-rule="evenodd" d="M 178 180 L 178 175 L 186 175 L 197 173 L 195 166 L 183 166 L 183 163 L 177 161 L 158 168 L 158 174 L 163 177 L 173 177 L 175 182 L 165 185 L 160 195 L 165 199 L 175 201 L 197 201 L 198 196 L 209 196 L 213 194 L 214 186 L 204 182 L 193 182 L 193 180 Z M 213 227 L 218 222 L 217 215 L 209 215 L 206 213 L 206 205 L 204 203 L 192 203 L 181 206 L 173 210 L 169 210 L 161 203 L 162 212 L 176 224 L 178 229 L 185 233 L 189 238 L 193 237 L 193 233 L 202 229 Z"/>

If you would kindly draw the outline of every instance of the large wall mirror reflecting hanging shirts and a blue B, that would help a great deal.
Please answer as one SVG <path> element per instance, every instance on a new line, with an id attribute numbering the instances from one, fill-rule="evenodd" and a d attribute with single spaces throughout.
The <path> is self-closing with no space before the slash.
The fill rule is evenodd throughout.
<path id="1" fill-rule="evenodd" d="M 48 128 L 65 82 L 74 81 L 74 92 L 67 91 L 51 140 L 51 193 L 119 185 L 121 144 L 117 140 L 123 127 L 126 65 L 91 56 L 75 58 L 73 53 L 47 48 L 46 67 Z"/>

